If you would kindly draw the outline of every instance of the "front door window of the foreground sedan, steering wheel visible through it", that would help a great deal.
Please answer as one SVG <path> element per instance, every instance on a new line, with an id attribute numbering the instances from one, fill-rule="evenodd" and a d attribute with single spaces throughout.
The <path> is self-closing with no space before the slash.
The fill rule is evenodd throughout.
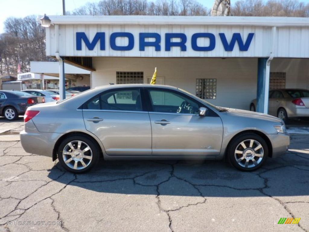
<path id="1" fill-rule="evenodd" d="M 153 112 L 198 114 L 198 103 L 180 93 L 150 89 L 149 96 Z"/>

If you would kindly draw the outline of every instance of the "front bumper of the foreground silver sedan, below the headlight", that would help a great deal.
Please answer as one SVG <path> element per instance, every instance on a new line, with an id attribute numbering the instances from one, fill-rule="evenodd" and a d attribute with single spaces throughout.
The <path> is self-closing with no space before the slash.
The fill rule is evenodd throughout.
<path id="1" fill-rule="evenodd" d="M 286 153 L 290 146 L 290 135 L 288 133 L 278 133 L 275 135 L 267 135 L 272 147 L 273 154 L 272 158 L 278 157 Z"/>

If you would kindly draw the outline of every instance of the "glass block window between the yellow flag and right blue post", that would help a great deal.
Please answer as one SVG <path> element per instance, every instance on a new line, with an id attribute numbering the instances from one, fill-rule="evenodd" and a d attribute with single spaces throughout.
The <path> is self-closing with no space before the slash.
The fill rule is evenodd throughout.
<path id="1" fill-rule="evenodd" d="M 216 99 L 217 79 L 196 79 L 196 96 L 201 99 Z"/>

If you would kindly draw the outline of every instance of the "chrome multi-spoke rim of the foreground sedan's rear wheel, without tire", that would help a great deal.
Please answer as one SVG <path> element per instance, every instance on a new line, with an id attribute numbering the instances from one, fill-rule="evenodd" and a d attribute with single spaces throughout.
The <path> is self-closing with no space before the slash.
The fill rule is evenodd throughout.
<path id="1" fill-rule="evenodd" d="M 63 161 L 75 170 L 86 168 L 92 160 L 92 151 L 88 144 L 83 141 L 71 141 L 63 148 Z"/>

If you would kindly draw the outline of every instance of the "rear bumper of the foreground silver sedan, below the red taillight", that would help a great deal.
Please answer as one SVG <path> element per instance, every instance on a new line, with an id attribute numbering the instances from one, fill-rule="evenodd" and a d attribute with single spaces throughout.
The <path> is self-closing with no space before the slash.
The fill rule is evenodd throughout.
<path id="1" fill-rule="evenodd" d="M 39 132 L 32 120 L 27 124 L 27 127 L 25 127 L 27 131 L 20 132 L 20 142 L 23 149 L 27 153 L 53 157 L 54 146 L 62 134 Z"/>

